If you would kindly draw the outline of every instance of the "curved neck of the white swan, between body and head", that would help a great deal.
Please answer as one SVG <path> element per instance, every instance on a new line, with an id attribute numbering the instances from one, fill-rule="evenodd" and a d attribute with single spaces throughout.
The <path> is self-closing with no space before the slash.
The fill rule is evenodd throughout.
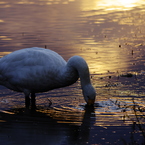
<path id="1" fill-rule="evenodd" d="M 86 61 L 80 56 L 73 56 L 68 60 L 64 69 L 63 82 L 70 82 L 73 84 L 80 77 L 81 87 L 90 84 L 89 68 Z"/>

